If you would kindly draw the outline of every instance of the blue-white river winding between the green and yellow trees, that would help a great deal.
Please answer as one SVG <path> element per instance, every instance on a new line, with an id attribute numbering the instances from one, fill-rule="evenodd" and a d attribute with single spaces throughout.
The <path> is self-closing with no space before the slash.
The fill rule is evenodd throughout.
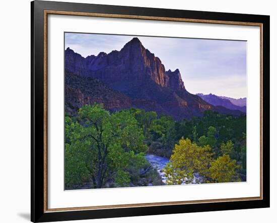
<path id="1" fill-rule="evenodd" d="M 165 181 L 167 178 L 165 176 L 165 172 L 162 170 L 166 167 L 166 164 L 169 162 L 169 159 L 165 157 L 157 156 L 154 154 L 147 154 L 145 158 L 154 168 L 157 169 L 159 175 L 162 177 L 162 181 L 166 184 Z M 194 179 L 189 184 L 196 184 L 196 183 L 202 182 L 202 177 L 199 176 L 199 174 L 195 173 L 193 175 L 194 175 Z M 182 184 L 185 184 L 185 180 L 183 181 Z"/>

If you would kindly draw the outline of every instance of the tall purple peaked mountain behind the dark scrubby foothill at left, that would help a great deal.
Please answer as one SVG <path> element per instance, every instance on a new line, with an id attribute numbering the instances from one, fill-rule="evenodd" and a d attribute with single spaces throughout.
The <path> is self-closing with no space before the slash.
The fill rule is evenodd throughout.
<path id="1" fill-rule="evenodd" d="M 166 71 L 159 57 L 146 49 L 138 38 L 127 42 L 120 51 L 114 50 L 108 54 L 100 52 L 97 56 L 86 58 L 67 48 L 65 75 L 68 73 L 101 81 L 108 88 L 128 97 L 128 106 L 156 110 L 157 113 L 170 115 L 176 120 L 201 116 L 206 109 L 222 110 L 230 115 L 242 114 L 239 111 L 216 108 L 201 97 L 189 93 L 179 69 Z"/>

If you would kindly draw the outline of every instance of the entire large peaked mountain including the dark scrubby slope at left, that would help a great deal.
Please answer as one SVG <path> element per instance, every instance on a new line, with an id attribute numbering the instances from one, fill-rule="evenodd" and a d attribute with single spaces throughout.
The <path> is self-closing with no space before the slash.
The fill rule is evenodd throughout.
<path id="1" fill-rule="evenodd" d="M 166 71 L 161 60 L 138 38 L 120 51 L 86 58 L 67 48 L 64 59 L 65 111 L 69 113 L 83 104 L 97 102 L 111 111 L 137 107 L 170 115 L 175 120 L 200 117 L 206 109 L 234 116 L 244 114 L 189 93 L 180 71 Z"/>

